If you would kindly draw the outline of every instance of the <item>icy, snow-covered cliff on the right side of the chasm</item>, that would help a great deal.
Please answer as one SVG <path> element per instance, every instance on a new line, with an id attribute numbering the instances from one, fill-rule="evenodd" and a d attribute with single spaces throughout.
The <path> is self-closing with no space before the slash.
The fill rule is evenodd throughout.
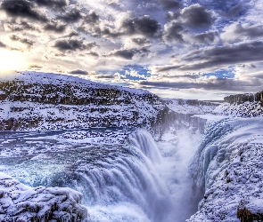
<path id="1" fill-rule="evenodd" d="M 210 124 L 190 165 L 195 192 L 204 196 L 187 221 L 253 221 L 262 216 L 262 131 L 261 117 Z"/>

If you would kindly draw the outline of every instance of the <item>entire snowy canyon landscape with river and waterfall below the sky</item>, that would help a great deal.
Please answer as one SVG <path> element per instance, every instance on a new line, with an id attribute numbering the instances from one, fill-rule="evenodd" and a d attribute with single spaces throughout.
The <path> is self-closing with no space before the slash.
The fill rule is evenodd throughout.
<path id="1" fill-rule="evenodd" d="M 262 114 L 258 100 L 0 75 L 0 221 L 263 221 Z"/>

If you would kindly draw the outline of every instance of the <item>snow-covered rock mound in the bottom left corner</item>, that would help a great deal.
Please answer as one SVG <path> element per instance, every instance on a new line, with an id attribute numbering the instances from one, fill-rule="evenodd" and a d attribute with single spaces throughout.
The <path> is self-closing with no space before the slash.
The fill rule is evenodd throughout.
<path id="1" fill-rule="evenodd" d="M 0 172 L 0 221 L 88 222 L 82 194 L 70 188 L 25 186 Z"/>

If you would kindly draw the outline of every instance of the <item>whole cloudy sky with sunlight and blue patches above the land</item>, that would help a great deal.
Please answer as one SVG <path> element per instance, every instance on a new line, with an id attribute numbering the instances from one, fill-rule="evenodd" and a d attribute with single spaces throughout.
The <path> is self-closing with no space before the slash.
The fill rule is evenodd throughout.
<path id="1" fill-rule="evenodd" d="M 223 99 L 263 90 L 262 21 L 263 0 L 0 0 L 0 73 Z"/>

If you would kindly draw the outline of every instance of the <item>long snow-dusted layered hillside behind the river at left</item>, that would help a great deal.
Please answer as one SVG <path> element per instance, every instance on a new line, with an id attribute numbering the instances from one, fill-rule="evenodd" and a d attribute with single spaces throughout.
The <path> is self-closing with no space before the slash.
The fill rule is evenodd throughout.
<path id="1" fill-rule="evenodd" d="M 149 91 L 93 83 L 67 75 L 24 73 L 0 80 L 0 130 L 61 130 L 143 126 L 170 114 Z"/>

